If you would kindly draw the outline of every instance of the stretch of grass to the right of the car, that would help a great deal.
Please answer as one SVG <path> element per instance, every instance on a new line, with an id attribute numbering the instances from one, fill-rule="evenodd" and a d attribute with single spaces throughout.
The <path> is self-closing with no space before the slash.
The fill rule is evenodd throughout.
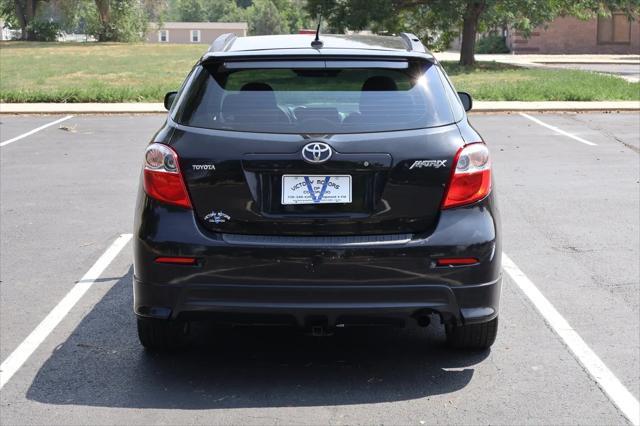
<path id="1" fill-rule="evenodd" d="M 483 101 L 639 100 L 640 83 L 577 70 L 521 68 L 478 62 L 473 68 L 443 62 L 457 90 Z"/>

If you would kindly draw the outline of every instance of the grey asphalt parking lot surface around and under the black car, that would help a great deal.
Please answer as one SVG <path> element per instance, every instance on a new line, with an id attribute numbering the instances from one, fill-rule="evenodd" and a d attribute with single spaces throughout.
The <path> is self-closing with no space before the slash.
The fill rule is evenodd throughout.
<path id="1" fill-rule="evenodd" d="M 0 148 L 3 366 L 131 232 L 142 154 L 164 117 L 77 116 L 16 139 L 61 118 L 0 117 L 0 142 L 14 140 Z M 31 342 L 0 391 L 0 423 L 629 423 L 620 405 L 640 396 L 640 115 L 471 122 L 492 151 L 503 248 L 522 274 L 504 275 L 491 351 L 448 350 L 436 321 L 328 338 L 203 326 L 185 352 L 152 356 L 137 341 L 129 243 Z M 594 377 L 523 282 L 630 400 Z"/>

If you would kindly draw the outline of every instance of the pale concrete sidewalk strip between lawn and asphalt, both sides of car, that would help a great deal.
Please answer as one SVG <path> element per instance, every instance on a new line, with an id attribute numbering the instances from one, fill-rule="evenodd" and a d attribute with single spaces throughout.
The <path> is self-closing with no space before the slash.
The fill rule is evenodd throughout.
<path id="1" fill-rule="evenodd" d="M 474 101 L 472 112 L 640 111 L 640 101 L 520 102 Z M 161 103 L 0 104 L 1 114 L 166 114 Z"/>

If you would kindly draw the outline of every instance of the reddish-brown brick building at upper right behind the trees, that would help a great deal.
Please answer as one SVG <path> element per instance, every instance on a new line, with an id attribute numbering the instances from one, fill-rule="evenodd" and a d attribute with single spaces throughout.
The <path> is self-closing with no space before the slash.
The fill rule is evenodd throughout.
<path id="1" fill-rule="evenodd" d="M 508 31 L 506 42 L 514 54 L 638 54 L 640 23 L 623 13 L 588 21 L 561 17 L 536 28 L 529 38 Z"/>

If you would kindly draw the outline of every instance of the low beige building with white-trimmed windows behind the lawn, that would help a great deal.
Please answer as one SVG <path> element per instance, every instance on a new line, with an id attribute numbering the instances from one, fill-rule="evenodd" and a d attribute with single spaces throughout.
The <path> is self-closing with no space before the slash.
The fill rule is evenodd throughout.
<path id="1" fill-rule="evenodd" d="M 149 24 L 145 40 L 148 43 L 211 44 L 221 34 L 247 35 L 246 22 L 164 22 Z"/>

